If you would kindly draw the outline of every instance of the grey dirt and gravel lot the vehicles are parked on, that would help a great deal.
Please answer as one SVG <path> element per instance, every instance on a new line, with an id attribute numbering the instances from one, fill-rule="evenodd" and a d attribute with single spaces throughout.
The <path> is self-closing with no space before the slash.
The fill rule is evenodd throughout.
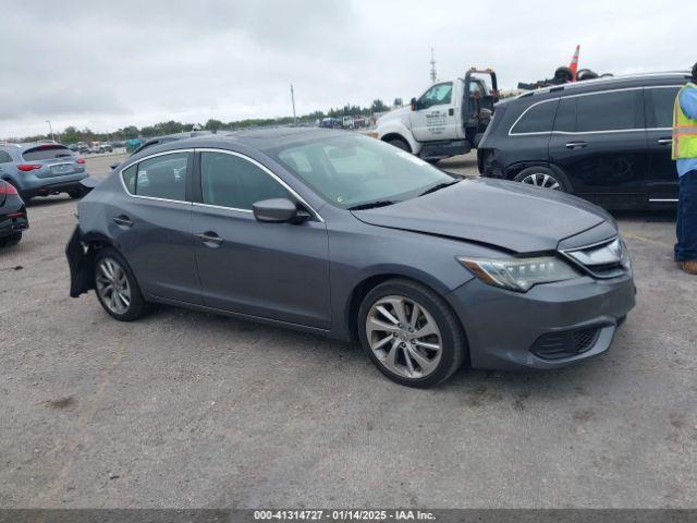
<path id="1" fill-rule="evenodd" d="M 111 320 L 68 295 L 75 203 L 28 210 L 0 251 L 1 507 L 696 504 L 697 279 L 671 216 L 619 217 L 638 304 L 609 353 L 420 391 L 310 335 L 168 307 Z"/>

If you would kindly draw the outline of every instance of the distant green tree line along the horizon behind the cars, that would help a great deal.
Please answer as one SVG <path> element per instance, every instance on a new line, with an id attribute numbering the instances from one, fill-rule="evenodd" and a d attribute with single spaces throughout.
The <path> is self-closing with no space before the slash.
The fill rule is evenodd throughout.
<path id="1" fill-rule="evenodd" d="M 327 112 L 314 111 L 308 114 L 297 117 L 299 123 L 314 123 L 322 118 L 341 118 L 345 115 L 364 115 L 369 117 L 378 112 L 384 112 L 390 108 L 382 100 L 376 99 L 370 107 L 360 107 L 346 104 L 344 107 L 331 108 Z M 155 125 L 146 125 L 138 129 L 135 125 L 126 125 L 110 133 L 98 133 L 88 127 L 77 129 L 74 125 L 65 127 L 60 133 L 60 142 L 63 144 L 73 144 L 77 142 L 105 142 L 109 139 L 125 141 L 138 137 L 161 136 L 163 134 L 175 134 L 182 132 L 191 132 L 194 129 L 203 129 L 205 131 L 234 131 L 248 127 L 261 127 L 271 125 L 289 125 L 294 122 L 293 117 L 281 118 L 253 118 L 246 120 L 235 120 L 232 122 L 223 122 L 221 120 L 209 119 L 204 125 L 197 123 L 182 123 L 170 120 L 169 122 L 160 122 Z M 58 138 L 58 136 L 57 136 Z M 50 135 L 40 134 L 35 136 L 25 136 L 21 142 L 38 142 L 40 139 L 50 139 Z"/>

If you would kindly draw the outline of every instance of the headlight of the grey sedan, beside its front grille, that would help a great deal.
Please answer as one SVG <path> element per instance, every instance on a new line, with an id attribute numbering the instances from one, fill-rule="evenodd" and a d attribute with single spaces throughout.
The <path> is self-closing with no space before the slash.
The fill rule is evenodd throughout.
<path id="1" fill-rule="evenodd" d="M 457 262 L 485 283 L 518 292 L 526 292 L 537 283 L 571 280 L 580 276 L 554 256 L 501 259 L 457 256 Z"/>

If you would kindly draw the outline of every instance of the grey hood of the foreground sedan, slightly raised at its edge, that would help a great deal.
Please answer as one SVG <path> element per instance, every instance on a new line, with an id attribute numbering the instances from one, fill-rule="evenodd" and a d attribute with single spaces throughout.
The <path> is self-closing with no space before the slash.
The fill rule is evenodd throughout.
<path id="1" fill-rule="evenodd" d="M 553 251 L 562 240 L 601 223 L 598 234 L 602 239 L 616 234 L 610 215 L 588 202 L 491 179 L 465 180 L 418 198 L 353 214 L 372 226 L 468 240 L 515 253 Z"/>

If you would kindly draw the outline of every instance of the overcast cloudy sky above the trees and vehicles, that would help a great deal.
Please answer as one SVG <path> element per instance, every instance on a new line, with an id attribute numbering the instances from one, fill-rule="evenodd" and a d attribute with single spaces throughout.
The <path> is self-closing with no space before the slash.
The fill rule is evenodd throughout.
<path id="1" fill-rule="evenodd" d="M 0 0 L 0 137 L 391 102 L 493 66 L 550 77 L 580 44 L 598 72 L 688 69 L 697 3 L 655 0 Z M 468 12 L 470 5 L 479 5 Z M 690 12 L 688 12 L 690 11 Z M 692 44 L 692 46 L 690 46 Z"/>

